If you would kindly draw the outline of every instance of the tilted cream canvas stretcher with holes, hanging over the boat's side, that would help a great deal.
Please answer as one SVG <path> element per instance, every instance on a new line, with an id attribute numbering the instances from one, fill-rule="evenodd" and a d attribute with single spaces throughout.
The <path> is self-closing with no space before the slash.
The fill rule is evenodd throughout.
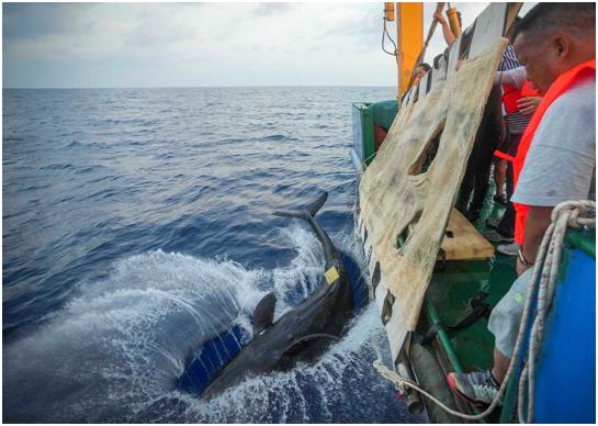
<path id="1" fill-rule="evenodd" d="M 438 76 L 432 74 L 429 92 L 421 89 L 427 86 L 426 78 L 406 96 L 361 179 L 359 231 L 394 360 L 419 317 L 494 74 L 507 45 L 500 35 L 485 47 L 476 47 L 474 37 L 471 59 L 459 70 L 454 70 L 456 57 L 451 54 L 445 81 L 435 81 Z M 459 44 L 460 38 L 451 51 L 459 52 Z M 472 48 L 479 48 L 473 58 Z M 436 156 L 422 171 L 437 144 Z"/>

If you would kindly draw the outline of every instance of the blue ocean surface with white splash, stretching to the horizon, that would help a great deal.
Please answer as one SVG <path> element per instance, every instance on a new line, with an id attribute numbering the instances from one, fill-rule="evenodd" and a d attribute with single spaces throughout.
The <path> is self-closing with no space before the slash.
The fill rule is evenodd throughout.
<path id="1" fill-rule="evenodd" d="M 3 90 L 4 422 L 410 423 L 353 233 L 351 102 L 392 88 Z M 317 215 L 356 289 L 315 363 L 202 390 L 318 284 Z"/>

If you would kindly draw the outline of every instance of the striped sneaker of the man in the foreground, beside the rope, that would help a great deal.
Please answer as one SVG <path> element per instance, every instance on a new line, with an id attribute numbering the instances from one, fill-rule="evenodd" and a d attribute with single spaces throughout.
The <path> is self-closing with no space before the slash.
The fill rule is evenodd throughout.
<path id="1" fill-rule="evenodd" d="M 489 370 L 471 373 L 449 373 L 447 381 L 451 391 L 476 407 L 492 404 L 500 388 Z"/>

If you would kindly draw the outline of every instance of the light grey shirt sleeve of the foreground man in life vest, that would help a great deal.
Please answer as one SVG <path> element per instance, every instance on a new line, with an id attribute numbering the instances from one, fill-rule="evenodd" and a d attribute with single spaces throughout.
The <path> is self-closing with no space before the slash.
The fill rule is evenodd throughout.
<path id="1" fill-rule="evenodd" d="M 540 122 L 512 201 L 554 206 L 596 200 L 596 80 L 576 82 Z"/>

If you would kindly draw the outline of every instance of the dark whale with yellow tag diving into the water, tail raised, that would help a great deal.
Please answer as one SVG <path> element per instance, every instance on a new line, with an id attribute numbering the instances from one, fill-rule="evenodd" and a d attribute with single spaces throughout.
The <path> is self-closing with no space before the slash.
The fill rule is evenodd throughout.
<path id="1" fill-rule="evenodd" d="M 272 321 L 277 299 L 274 293 L 268 293 L 255 311 L 253 339 L 221 370 L 204 397 L 212 397 L 247 377 L 284 371 L 300 360 L 314 360 L 340 338 L 353 313 L 353 291 L 338 250 L 314 220 L 327 198 L 325 192 L 304 210 L 274 213 L 303 218 L 312 225 L 326 260 L 319 287 L 275 323 Z"/>

